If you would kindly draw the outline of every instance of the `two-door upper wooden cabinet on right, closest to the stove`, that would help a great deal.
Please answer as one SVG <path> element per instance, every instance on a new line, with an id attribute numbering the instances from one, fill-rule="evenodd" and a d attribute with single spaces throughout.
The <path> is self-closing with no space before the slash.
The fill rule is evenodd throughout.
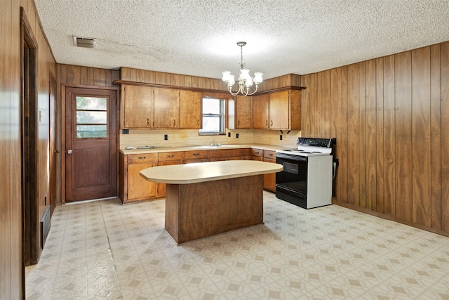
<path id="1" fill-rule="evenodd" d="M 288 90 L 253 98 L 254 129 L 301 129 L 301 91 Z"/>

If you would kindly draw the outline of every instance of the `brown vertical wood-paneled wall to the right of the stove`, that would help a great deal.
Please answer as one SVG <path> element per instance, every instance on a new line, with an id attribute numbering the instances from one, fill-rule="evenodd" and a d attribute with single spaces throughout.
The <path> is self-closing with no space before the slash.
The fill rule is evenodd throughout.
<path id="1" fill-rule="evenodd" d="M 449 42 L 302 86 L 302 136 L 337 138 L 333 202 L 449 235 Z"/>

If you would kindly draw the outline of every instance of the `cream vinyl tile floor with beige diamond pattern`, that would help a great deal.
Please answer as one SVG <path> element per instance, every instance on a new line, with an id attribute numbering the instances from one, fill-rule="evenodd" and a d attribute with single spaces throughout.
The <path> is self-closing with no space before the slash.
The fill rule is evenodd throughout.
<path id="1" fill-rule="evenodd" d="M 449 238 L 264 192 L 264 225 L 176 246 L 164 200 L 55 209 L 27 299 L 449 299 Z"/>

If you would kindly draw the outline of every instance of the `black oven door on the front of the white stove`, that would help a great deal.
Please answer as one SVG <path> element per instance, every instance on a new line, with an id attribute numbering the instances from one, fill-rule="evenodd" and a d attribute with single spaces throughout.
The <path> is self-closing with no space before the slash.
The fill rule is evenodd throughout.
<path id="1" fill-rule="evenodd" d="M 276 189 L 307 195 L 307 157 L 277 153 L 276 163 L 283 165 L 276 173 Z"/>

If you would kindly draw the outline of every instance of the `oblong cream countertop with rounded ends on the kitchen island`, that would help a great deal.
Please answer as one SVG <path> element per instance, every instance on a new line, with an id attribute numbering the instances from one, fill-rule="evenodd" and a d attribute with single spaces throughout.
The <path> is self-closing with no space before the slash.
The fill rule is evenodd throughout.
<path id="1" fill-rule="evenodd" d="M 159 166 L 140 171 L 147 181 L 169 184 L 189 184 L 217 181 L 282 171 L 281 164 L 256 160 L 225 160 Z"/>

